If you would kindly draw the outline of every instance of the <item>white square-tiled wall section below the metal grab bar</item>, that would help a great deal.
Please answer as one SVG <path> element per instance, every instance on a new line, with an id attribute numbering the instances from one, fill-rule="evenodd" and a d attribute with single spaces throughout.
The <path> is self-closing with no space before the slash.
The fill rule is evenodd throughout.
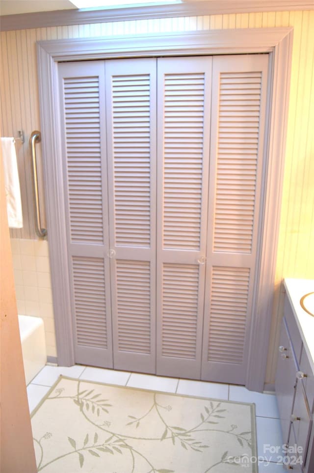
<path id="1" fill-rule="evenodd" d="M 42 317 L 47 355 L 56 357 L 48 242 L 11 238 L 18 313 Z"/>

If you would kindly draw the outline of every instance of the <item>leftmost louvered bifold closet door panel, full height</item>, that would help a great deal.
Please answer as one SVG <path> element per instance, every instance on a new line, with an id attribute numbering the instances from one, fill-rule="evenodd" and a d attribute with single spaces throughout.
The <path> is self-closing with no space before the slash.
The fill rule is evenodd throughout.
<path id="1" fill-rule="evenodd" d="M 112 367 L 105 65 L 60 63 L 58 73 L 75 361 Z"/>

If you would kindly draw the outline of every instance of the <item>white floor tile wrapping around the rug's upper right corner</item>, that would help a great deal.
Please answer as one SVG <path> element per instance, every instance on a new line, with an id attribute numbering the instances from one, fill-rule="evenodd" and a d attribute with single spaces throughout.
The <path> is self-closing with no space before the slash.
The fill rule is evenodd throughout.
<path id="1" fill-rule="evenodd" d="M 230 386 L 230 401 L 254 402 L 256 415 L 279 418 L 276 396 L 262 392 L 249 391 L 243 386 Z"/>

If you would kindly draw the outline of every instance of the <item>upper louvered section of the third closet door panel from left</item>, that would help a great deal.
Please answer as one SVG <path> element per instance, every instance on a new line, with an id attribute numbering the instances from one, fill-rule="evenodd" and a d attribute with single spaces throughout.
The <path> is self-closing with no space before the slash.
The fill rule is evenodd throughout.
<path id="1" fill-rule="evenodd" d="M 204 81 L 204 73 L 164 76 L 165 249 L 200 248 Z"/>

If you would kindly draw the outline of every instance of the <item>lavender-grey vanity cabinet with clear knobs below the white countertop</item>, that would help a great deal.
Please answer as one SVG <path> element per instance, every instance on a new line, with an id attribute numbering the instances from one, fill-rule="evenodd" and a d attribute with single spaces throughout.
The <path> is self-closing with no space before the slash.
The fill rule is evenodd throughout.
<path id="1" fill-rule="evenodd" d="M 314 374 L 288 294 L 278 351 L 275 380 L 284 444 L 288 445 L 287 470 L 314 472 Z M 295 448 L 299 451 L 294 452 Z M 301 451 L 300 451 L 301 450 Z M 299 462 L 295 459 L 299 458 Z"/>

